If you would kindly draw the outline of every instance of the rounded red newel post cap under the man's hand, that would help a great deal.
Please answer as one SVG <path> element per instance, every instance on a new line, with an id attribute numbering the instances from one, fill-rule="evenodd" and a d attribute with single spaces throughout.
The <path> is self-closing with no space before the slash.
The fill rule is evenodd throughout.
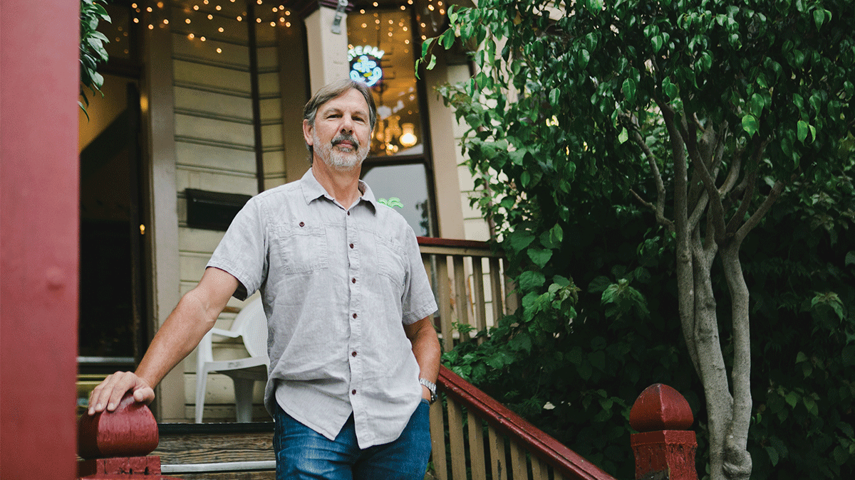
<path id="1" fill-rule="evenodd" d="M 149 407 L 125 395 L 114 412 L 83 414 L 77 452 L 84 459 L 144 457 L 157 448 L 157 421 Z"/>

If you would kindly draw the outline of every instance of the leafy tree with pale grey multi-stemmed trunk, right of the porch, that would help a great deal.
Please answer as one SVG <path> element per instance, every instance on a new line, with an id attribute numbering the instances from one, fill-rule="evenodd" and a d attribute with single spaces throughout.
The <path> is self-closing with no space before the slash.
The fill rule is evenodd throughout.
<path id="1" fill-rule="evenodd" d="M 423 54 L 430 67 L 434 44 L 475 50 L 479 73 L 442 94 L 471 127 L 464 149 L 518 269 L 522 323 L 581 320 L 558 255 L 568 201 L 648 209 L 663 230 L 647 231 L 641 247 L 674 242 L 711 477 L 748 478 L 751 311 L 740 249 L 787 185 L 823 184 L 844 167 L 840 142 L 855 125 L 852 3 L 483 0 L 449 19 Z M 728 312 L 716 307 L 716 265 Z M 646 314 L 632 276 L 616 279 L 604 285 L 606 315 Z"/>

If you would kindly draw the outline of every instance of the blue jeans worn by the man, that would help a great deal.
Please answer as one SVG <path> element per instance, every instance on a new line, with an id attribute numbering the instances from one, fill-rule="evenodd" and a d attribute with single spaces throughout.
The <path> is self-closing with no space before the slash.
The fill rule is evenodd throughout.
<path id="1" fill-rule="evenodd" d="M 363 450 L 353 415 L 333 441 L 277 405 L 276 480 L 422 480 L 431 452 L 428 411 L 428 401 L 422 400 L 398 440 Z"/>

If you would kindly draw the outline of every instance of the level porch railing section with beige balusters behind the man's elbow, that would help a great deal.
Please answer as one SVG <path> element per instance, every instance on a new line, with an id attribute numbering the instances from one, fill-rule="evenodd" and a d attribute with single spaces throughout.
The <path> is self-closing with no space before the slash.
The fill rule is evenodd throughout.
<path id="1" fill-rule="evenodd" d="M 418 237 L 418 242 L 439 305 L 434 326 L 445 352 L 516 311 L 519 303 L 504 275 L 504 255 L 486 242 L 433 237 Z M 455 324 L 472 329 L 460 335 Z"/>

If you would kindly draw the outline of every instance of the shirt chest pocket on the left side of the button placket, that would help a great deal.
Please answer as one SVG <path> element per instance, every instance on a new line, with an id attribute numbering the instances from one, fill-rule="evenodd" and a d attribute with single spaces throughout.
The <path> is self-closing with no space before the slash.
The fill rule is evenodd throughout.
<path id="1" fill-rule="evenodd" d="M 310 273 L 329 267 L 327 231 L 323 225 L 282 225 L 275 229 L 282 272 Z"/>

